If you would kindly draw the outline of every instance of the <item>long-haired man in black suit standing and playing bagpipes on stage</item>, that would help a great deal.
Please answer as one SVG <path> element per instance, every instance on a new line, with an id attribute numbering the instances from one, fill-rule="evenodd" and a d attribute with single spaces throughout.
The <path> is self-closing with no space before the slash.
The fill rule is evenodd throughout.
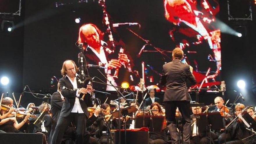
<path id="1" fill-rule="evenodd" d="M 63 135 L 70 124 L 74 122 L 76 126 L 76 140 L 75 143 L 81 144 L 84 142 L 84 132 L 86 129 L 86 120 L 88 119 L 87 106 L 93 106 L 90 99 L 92 86 L 87 85 L 83 88 L 76 78 L 78 68 L 74 61 L 66 60 L 63 62 L 61 74 L 63 77 L 59 80 L 61 87 L 61 94 L 65 97 L 61 113 L 52 136 L 52 144 L 60 144 Z M 63 86 L 68 89 L 63 89 Z M 79 88 L 79 89 L 77 89 Z M 77 89 L 77 90 L 73 90 Z M 80 95 L 81 94 L 81 95 Z M 85 99 L 82 101 L 80 98 L 85 94 Z"/>

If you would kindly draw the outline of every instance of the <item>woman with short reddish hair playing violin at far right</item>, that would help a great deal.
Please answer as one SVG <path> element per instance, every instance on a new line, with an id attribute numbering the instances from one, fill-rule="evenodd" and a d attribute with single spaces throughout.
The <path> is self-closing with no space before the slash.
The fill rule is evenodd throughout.
<path id="1" fill-rule="evenodd" d="M 237 104 L 235 106 L 235 114 L 240 114 L 244 108 L 245 106 L 243 104 Z M 226 134 L 230 134 L 232 140 L 227 141 L 226 144 L 243 144 L 246 143 L 247 140 L 250 140 L 249 138 L 245 141 L 242 141 L 243 138 L 250 136 L 250 131 L 246 130 L 246 125 L 240 118 L 235 120 L 230 126 L 226 128 Z"/>

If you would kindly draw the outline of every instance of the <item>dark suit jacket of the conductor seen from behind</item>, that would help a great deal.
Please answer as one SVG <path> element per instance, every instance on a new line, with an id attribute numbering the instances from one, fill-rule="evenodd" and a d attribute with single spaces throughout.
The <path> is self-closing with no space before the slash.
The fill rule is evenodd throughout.
<path id="1" fill-rule="evenodd" d="M 167 101 L 190 101 L 190 95 L 186 86 L 186 80 L 195 84 L 195 77 L 190 72 L 189 65 L 178 59 L 163 65 L 163 73 L 160 79 L 161 85 L 166 85 L 163 102 Z"/>

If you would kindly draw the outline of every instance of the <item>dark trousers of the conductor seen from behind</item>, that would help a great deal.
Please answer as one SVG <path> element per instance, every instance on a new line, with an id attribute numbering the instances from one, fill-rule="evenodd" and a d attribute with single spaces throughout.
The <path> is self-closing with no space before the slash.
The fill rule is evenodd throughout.
<path id="1" fill-rule="evenodd" d="M 190 119 L 190 102 L 188 101 L 168 101 L 165 102 L 165 117 L 167 120 L 167 127 L 170 131 L 172 144 L 178 143 L 177 137 L 177 126 L 175 113 L 176 108 L 179 108 L 180 113 L 182 114 L 182 118 L 185 120 L 185 124 L 183 125 L 183 141 L 184 144 L 190 143 L 190 132 L 191 132 L 191 119 Z"/>

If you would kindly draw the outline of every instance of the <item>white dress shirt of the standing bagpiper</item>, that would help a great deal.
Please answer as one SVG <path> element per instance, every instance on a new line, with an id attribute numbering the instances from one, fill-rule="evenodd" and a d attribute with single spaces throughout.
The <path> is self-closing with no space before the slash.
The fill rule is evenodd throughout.
<path id="1" fill-rule="evenodd" d="M 73 88 L 77 88 L 77 78 L 75 77 L 75 79 L 74 79 L 74 81 L 72 81 L 71 79 L 70 79 L 70 77 L 68 77 L 68 76 L 66 76 L 68 79 L 69 79 L 69 81 L 72 83 L 72 85 L 73 85 Z M 78 94 L 78 90 L 77 90 L 77 94 L 76 94 L 76 99 L 75 99 L 75 104 L 74 104 L 74 107 L 73 107 L 73 109 L 72 109 L 72 111 L 71 111 L 71 113 L 84 113 L 83 112 L 83 109 L 82 109 L 82 107 L 81 107 L 81 105 L 80 105 L 80 102 L 79 102 L 79 94 Z"/>

